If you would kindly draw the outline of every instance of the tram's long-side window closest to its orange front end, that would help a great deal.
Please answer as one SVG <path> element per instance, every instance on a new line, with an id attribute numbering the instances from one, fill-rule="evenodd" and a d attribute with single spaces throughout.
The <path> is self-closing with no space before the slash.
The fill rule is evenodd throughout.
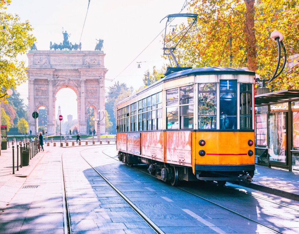
<path id="1" fill-rule="evenodd" d="M 181 129 L 193 129 L 193 114 L 194 114 L 193 98 L 194 98 L 193 85 L 180 87 Z"/>

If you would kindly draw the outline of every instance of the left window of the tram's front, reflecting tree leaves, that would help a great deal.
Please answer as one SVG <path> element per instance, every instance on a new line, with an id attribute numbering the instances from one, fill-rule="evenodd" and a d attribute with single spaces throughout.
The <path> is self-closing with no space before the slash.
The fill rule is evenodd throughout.
<path id="1" fill-rule="evenodd" d="M 198 129 L 216 129 L 216 83 L 198 84 Z"/>

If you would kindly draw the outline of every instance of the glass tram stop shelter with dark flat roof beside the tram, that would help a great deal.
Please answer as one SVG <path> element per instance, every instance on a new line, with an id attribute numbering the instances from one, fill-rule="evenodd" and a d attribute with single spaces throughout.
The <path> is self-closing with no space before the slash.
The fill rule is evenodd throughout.
<path id="1" fill-rule="evenodd" d="M 255 163 L 299 171 L 299 90 L 255 95 Z"/>

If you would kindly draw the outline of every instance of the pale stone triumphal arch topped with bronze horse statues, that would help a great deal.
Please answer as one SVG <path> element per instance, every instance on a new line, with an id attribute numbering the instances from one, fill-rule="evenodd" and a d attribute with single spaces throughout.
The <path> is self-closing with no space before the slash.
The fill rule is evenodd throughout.
<path id="1" fill-rule="evenodd" d="M 105 109 L 107 69 L 104 66 L 104 52 L 101 48 L 95 51 L 78 50 L 81 49 L 81 43 L 80 46 L 75 47 L 76 50 L 71 50 L 72 45 L 69 43 L 69 50 L 67 50 L 65 45 L 67 42 L 64 40 L 63 48 L 59 48 L 56 43 L 54 45 L 50 43 L 50 49 L 55 44 L 57 45 L 57 48 L 53 48 L 54 50 L 36 50 L 31 47 L 27 54 L 29 131 L 31 130 L 32 133 L 35 132 L 35 120 L 32 113 L 40 107 L 45 107 L 48 118 L 48 134 L 56 134 L 56 94 L 65 87 L 71 88 L 77 94 L 78 132 L 81 134 L 87 132 L 87 108 L 94 108 L 96 119 L 99 119 L 98 111 Z M 67 97 L 65 102 L 68 102 Z M 103 112 L 100 124 L 97 124 L 97 121 L 95 124 L 98 133 L 105 132 Z"/>

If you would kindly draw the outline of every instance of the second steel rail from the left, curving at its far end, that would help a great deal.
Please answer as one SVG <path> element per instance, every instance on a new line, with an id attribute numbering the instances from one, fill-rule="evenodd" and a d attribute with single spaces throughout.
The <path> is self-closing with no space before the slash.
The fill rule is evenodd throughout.
<path id="1" fill-rule="evenodd" d="M 101 148 L 101 147 L 98 147 Z M 94 149 L 94 148 L 93 148 Z M 89 149 L 85 149 L 85 150 L 89 150 Z M 102 179 L 121 197 L 123 198 L 123 200 L 126 201 L 126 203 L 128 203 L 129 206 L 132 207 L 132 209 L 149 225 L 149 227 L 151 227 L 156 233 L 158 234 L 165 234 L 153 221 L 151 221 L 147 215 L 145 215 L 137 206 L 135 206 L 130 200 L 129 198 L 126 197 L 125 194 L 123 194 L 118 188 L 116 188 L 105 176 L 103 176 L 102 173 L 100 173 L 94 166 L 92 166 L 89 161 L 86 160 L 86 158 L 82 155 L 82 151 L 81 150 L 80 156 L 92 167 L 92 169 L 94 169 L 94 171 L 102 177 Z M 102 150 L 103 153 L 103 150 Z"/>

